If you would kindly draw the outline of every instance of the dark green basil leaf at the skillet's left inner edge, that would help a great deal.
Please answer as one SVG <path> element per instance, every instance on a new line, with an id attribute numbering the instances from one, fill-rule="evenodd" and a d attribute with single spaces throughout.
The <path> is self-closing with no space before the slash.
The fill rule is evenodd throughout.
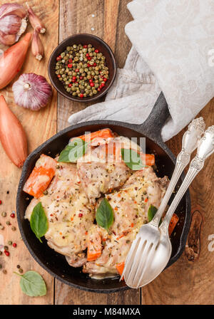
<path id="1" fill-rule="evenodd" d="M 44 236 L 49 229 L 49 222 L 40 202 L 34 207 L 31 214 L 30 225 L 32 231 L 34 231 L 34 234 L 42 243 L 41 237 Z"/>

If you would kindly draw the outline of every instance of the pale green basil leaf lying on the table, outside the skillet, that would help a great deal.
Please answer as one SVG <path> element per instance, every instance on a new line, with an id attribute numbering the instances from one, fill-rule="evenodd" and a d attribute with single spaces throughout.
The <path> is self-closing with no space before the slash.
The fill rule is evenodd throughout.
<path id="1" fill-rule="evenodd" d="M 14 271 L 14 273 L 16 272 Z M 46 295 L 46 283 L 39 273 L 36 273 L 36 271 L 26 271 L 24 275 L 20 275 L 19 273 L 16 273 L 16 275 L 21 277 L 20 287 L 27 296 L 38 297 Z"/>

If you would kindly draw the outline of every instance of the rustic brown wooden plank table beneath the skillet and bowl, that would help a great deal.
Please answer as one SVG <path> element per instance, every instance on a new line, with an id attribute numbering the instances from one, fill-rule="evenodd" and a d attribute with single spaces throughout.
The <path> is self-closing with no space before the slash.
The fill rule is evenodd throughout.
<path id="1" fill-rule="evenodd" d="M 2 1 L 1 1 L 2 2 Z M 4 1 L 9 2 L 9 0 Z M 14 1 L 11 1 L 14 2 Z M 24 3 L 25 1 L 19 1 Z M 47 32 L 42 36 L 45 47 L 45 58 L 36 61 L 29 52 L 22 73 L 35 72 L 46 76 L 47 63 L 51 51 L 57 43 L 73 33 L 93 33 L 100 36 L 113 49 L 118 67 L 122 68 L 131 43 L 124 32 L 124 26 L 131 21 L 126 4 L 129 0 L 28 0 L 36 14 L 46 24 Z M 94 16 L 92 16 L 94 15 Z M 31 31 L 31 27 L 28 27 Z M 85 103 L 72 103 L 56 94 L 49 105 L 39 112 L 24 110 L 14 104 L 11 85 L 1 90 L 11 110 L 19 117 L 28 136 L 29 152 L 59 130 L 68 126 L 68 115 L 86 108 Z M 206 125 L 214 123 L 214 100 L 200 113 Z M 12 129 L 12 127 L 11 127 Z M 168 147 L 178 154 L 183 132 L 168 141 Z M 16 207 L 16 189 L 21 169 L 14 167 L 6 157 L 0 145 L 0 211 L 7 211 L 8 216 Z M 213 304 L 214 303 L 214 258 L 210 242 L 214 234 L 213 221 L 213 160 L 205 163 L 205 169 L 199 174 L 190 187 L 193 210 L 199 209 L 203 217 L 200 229 L 200 255 L 195 261 L 188 261 L 185 253 L 170 268 L 148 286 L 139 290 L 128 290 L 121 293 L 97 294 L 79 291 L 55 280 L 39 266 L 26 249 L 19 234 L 16 220 L 12 224 L 16 231 L 6 226 L 0 234 L 5 243 L 16 241 L 17 248 L 11 249 L 11 256 L 0 256 L 0 263 L 6 268 L 7 274 L 0 271 L 0 304 Z M 0 223 L 6 219 L 0 215 Z M 195 232 L 194 232 L 195 231 Z M 197 235 L 197 228 L 193 229 Z M 214 238 L 214 235 L 213 235 Z M 208 249 L 208 244 L 210 248 Z M 24 271 L 39 271 L 48 288 L 44 297 L 31 298 L 21 292 L 19 278 L 14 275 L 16 265 L 20 264 Z"/>

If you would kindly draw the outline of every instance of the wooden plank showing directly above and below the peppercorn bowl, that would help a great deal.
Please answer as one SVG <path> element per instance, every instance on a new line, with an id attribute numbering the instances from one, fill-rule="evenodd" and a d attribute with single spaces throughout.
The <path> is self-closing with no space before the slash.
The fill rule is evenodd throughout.
<path id="1" fill-rule="evenodd" d="M 60 2 L 59 42 L 76 33 L 92 33 L 103 38 L 103 1 L 93 0 L 90 5 L 86 0 Z M 91 104 L 69 101 L 58 94 L 57 130 L 63 130 L 69 125 L 69 115 Z"/>

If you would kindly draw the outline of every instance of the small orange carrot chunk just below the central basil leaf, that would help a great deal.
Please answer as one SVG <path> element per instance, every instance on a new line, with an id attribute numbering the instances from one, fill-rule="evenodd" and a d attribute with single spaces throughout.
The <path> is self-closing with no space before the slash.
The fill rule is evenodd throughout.
<path id="1" fill-rule="evenodd" d="M 87 261 L 96 261 L 102 253 L 101 235 L 97 232 L 91 234 L 88 241 Z"/>

